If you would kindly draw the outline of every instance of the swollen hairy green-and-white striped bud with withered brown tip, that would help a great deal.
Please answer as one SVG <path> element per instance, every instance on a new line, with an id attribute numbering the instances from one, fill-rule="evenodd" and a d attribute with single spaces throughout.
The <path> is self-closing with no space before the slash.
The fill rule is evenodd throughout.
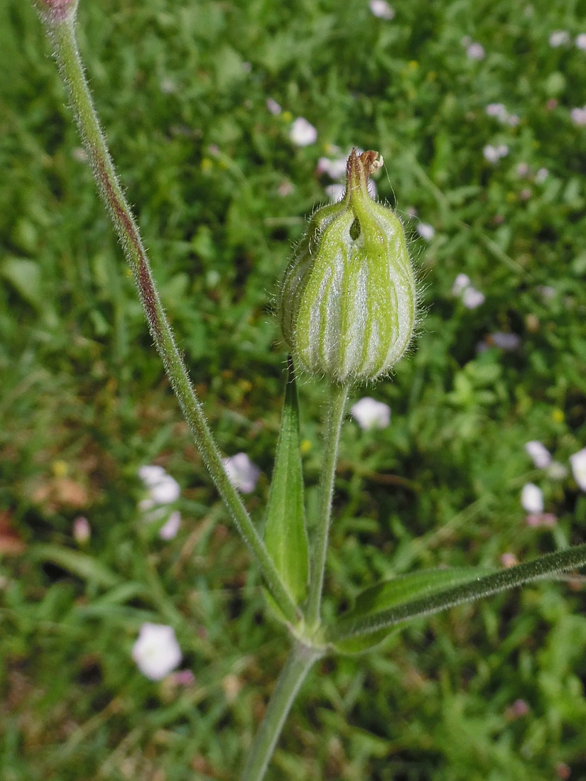
<path id="1" fill-rule="evenodd" d="M 381 165 L 377 152 L 352 150 L 344 198 L 313 214 L 280 290 L 280 326 L 298 368 L 338 383 L 388 373 L 413 335 L 405 233 L 367 188 Z"/>

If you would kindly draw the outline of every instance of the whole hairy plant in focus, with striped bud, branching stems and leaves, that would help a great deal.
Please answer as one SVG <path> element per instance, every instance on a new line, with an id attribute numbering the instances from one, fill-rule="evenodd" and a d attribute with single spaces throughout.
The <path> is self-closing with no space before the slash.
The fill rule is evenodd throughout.
<path id="1" fill-rule="evenodd" d="M 291 640 L 288 662 L 241 772 L 245 781 L 261 779 L 291 704 L 316 660 L 326 654 L 368 651 L 398 623 L 580 567 L 586 564 L 586 544 L 495 572 L 437 569 L 384 580 L 359 594 L 343 615 L 325 622 L 323 580 L 348 389 L 388 374 L 406 351 L 416 322 L 416 286 L 402 224 L 391 209 L 370 197 L 367 187 L 381 159 L 377 152 L 352 152 L 344 198 L 314 213 L 284 274 L 279 315 L 292 358 L 261 534 L 230 482 L 205 421 L 155 287 L 137 223 L 116 177 L 77 48 L 77 0 L 34 2 L 51 38 L 99 193 L 134 275 L 156 349 L 213 483 L 262 572 L 267 603 Z M 311 537 L 306 529 L 300 458 L 295 387 L 299 371 L 326 383 L 329 394 L 320 502 L 310 519 Z M 161 628 L 152 624 L 148 631 L 152 637 Z M 173 638 L 174 634 L 168 639 Z M 143 645 L 150 653 L 150 644 L 145 633 L 135 649 L 139 658 Z M 156 679 L 161 669 L 150 665 L 147 674 Z"/>

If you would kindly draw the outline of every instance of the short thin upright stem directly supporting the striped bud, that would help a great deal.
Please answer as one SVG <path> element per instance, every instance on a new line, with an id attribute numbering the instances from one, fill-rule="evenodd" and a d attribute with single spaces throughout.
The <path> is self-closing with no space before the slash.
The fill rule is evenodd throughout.
<path id="1" fill-rule="evenodd" d="M 334 496 L 334 479 L 338 463 L 338 444 L 344 407 L 348 398 L 348 385 L 331 383 L 330 403 L 327 410 L 326 434 L 321 473 L 320 515 L 317 519 L 316 537 L 313 540 L 313 560 L 309 580 L 309 600 L 306 621 L 309 631 L 320 623 L 323 575 L 326 569 L 327 540 L 330 533 L 331 502 Z"/>

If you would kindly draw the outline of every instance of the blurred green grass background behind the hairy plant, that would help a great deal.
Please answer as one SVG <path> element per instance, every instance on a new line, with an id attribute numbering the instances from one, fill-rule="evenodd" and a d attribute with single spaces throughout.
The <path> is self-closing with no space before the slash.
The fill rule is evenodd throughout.
<path id="1" fill-rule="evenodd" d="M 366 0 L 80 2 L 95 101 L 180 347 L 223 451 L 263 470 L 247 498 L 259 522 L 284 379 L 276 280 L 327 199 L 320 156 L 384 155 L 379 194 L 406 223 L 427 316 L 392 380 L 354 394 L 392 420 L 344 432 L 331 615 L 380 577 L 531 558 L 586 527 L 571 474 L 555 480 L 523 451 L 541 440 L 567 466 L 586 445 L 586 128 L 570 115 L 586 103 L 573 44 L 586 3 L 393 8 L 382 20 Z M 286 638 L 152 351 L 49 52 L 27 2 L 3 3 L 0 776 L 234 779 Z M 488 116 L 493 102 L 518 123 Z M 291 144 L 298 116 L 315 144 Z M 487 144 L 508 153 L 491 163 Z M 459 273 L 483 305 L 452 296 Z M 311 505 L 323 400 L 313 383 L 301 395 Z M 153 462 L 182 488 L 165 543 L 137 512 L 137 470 Z M 528 480 L 555 526 L 527 526 Z M 67 557 L 79 515 L 83 571 Z M 191 686 L 135 668 L 145 620 L 174 627 Z M 380 652 L 321 663 L 268 777 L 584 779 L 585 651 L 579 579 L 418 622 Z"/>

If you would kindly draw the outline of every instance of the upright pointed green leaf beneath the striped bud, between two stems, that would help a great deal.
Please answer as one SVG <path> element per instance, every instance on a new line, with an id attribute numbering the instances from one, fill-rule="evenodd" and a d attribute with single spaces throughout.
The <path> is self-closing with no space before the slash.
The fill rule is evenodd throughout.
<path id="1" fill-rule="evenodd" d="M 306 597 L 309 563 L 299 454 L 299 412 L 291 359 L 266 508 L 265 544 L 291 597 L 299 604 Z M 274 602 L 272 604 L 274 606 Z"/>

